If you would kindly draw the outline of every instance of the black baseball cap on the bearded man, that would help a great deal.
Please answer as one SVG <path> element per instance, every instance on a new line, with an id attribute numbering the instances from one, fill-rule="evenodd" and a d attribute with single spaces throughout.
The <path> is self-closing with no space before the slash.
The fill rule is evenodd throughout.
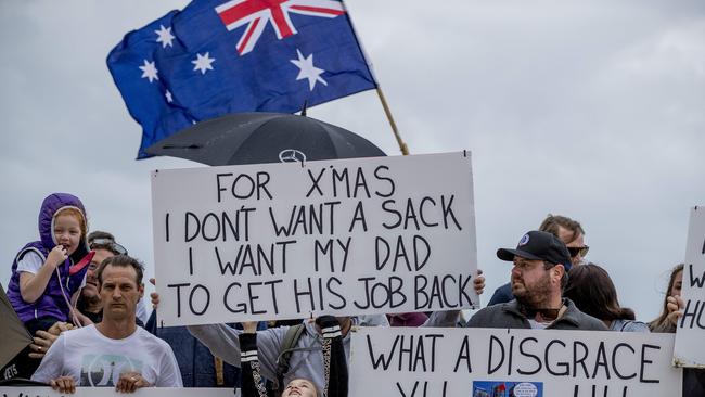
<path id="1" fill-rule="evenodd" d="M 563 265 L 565 271 L 571 270 L 571 254 L 561 239 L 538 230 L 524 234 L 516 244 L 516 249 L 499 248 L 497 257 L 512 261 L 514 256 L 531 260 L 543 260 L 552 265 Z"/>

